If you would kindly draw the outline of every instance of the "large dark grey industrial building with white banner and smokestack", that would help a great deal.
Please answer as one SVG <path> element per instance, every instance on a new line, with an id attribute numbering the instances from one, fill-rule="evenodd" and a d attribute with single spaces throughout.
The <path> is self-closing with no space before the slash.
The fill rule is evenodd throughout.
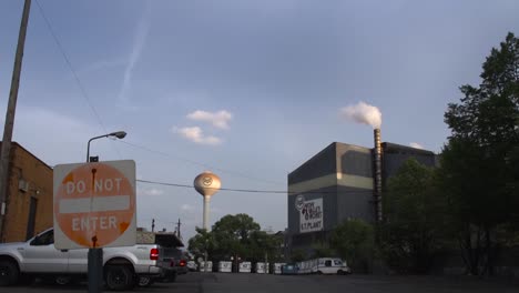
<path id="1" fill-rule="evenodd" d="M 380 142 L 375 148 L 334 142 L 288 174 L 288 246 L 307 252 L 327 242 L 344 220 L 375 223 L 383 216 L 387 179 L 409 158 L 432 166 L 431 151 Z"/>

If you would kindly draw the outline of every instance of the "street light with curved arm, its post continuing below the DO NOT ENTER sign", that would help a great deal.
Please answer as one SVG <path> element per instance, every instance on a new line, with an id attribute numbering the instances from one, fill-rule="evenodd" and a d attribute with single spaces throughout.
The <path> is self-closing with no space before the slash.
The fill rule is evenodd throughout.
<path id="1" fill-rule="evenodd" d="M 118 138 L 124 139 L 126 137 L 126 132 L 124 131 L 115 131 L 112 133 L 99 135 L 95 138 L 91 138 L 89 143 L 86 144 L 86 163 L 90 162 L 90 142 L 96 139 L 102 138 Z M 95 236 L 94 236 L 95 238 Z M 94 244 L 95 245 L 95 244 Z M 99 293 L 102 292 L 103 285 L 103 249 L 89 249 L 88 254 L 88 280 L 89 280 L 89 293 Z"/>

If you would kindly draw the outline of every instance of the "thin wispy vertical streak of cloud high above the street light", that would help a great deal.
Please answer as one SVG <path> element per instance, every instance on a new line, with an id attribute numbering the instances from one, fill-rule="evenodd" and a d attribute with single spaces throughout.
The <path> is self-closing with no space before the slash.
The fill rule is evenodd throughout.
<path id="1" fill-rule="evenodd" d="M 133 39 L 132 52 L 130 53 L 130 59 L 128 60 L 126 69 L 124 70 L 123 82 L 121 89 L 119 90 L 118 99 L 119 101 L 126 101 L 126 92 L 131 87 L 131 80 L 133 74 L 133 67 L 141 58 L 142 48 L 144 47 L 147 38 L 147 32 L 150 30 L 150 6 L 147 4 L 139 24 L 136 27 L 135 37 Z"/>

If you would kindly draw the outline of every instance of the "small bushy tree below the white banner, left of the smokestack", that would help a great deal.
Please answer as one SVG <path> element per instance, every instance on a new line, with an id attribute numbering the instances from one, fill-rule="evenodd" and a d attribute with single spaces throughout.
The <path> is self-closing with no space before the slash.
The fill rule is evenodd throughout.
<path id="1" fill-rule="evenodd" d="M 363 220 L 346 220 L 337 225 L 330 235 L 330 247 L 349 265 L 360 271 L 368 271 L 374 254 L 374 229 Z"/>

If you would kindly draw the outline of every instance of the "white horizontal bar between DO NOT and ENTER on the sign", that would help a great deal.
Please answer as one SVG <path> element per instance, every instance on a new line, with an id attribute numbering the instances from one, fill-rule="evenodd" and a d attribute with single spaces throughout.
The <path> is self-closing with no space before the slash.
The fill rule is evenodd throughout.
<path id="1" fill-rule="evenodd" d="M 92 210 L 91 210 L 92 206 Z M 88 213 L 124 211 L 130 209 L 130 195 L 111 195 L 81 199 L 65 199 L 60 201 L 60 213 Z"/>

